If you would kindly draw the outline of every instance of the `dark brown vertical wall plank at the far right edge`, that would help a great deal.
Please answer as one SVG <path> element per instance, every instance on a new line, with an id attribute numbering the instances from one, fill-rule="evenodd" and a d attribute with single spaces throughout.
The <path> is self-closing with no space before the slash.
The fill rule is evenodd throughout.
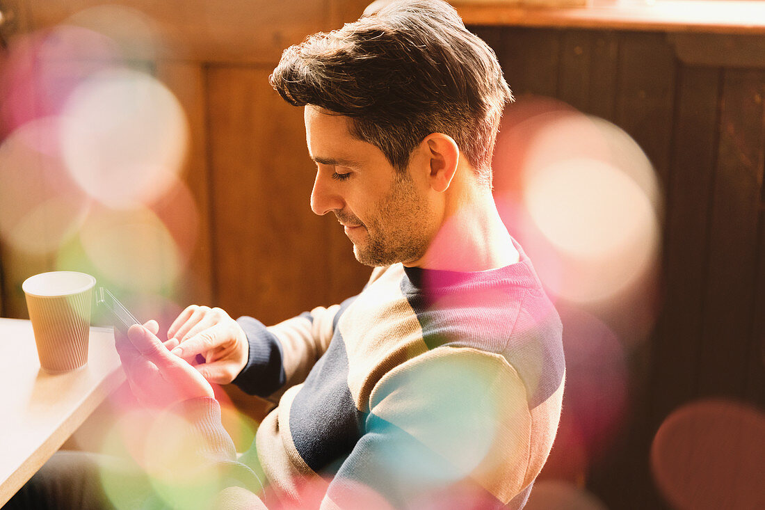
<path id="1" fill-rule="evenodd" d="M 765 157 L 763 83 L 762 71 L 724 71 L 698 397 L 746 394 Z"/>

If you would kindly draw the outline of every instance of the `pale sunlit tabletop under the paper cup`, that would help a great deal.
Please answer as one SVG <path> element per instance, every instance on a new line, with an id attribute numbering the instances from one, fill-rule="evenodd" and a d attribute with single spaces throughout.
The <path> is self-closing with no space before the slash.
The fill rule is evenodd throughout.
<path id="1" fill-rule="evenodd" d="M 0 319 L 0 506 L 125 381 L 112 329 L 91 328 L 88 362 L 40 368 L 31 322 Z"/>

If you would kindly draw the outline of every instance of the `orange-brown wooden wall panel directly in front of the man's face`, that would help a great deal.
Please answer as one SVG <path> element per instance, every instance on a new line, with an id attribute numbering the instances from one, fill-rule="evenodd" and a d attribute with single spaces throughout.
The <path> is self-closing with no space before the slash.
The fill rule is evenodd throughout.
<path id="1" fill-rule="evenodd" d="M 207 83 L 217 302 L 272 323 L 324 302 L 337 221 L 308 207 L 303 110 L 272 90 L 271 70 L 210 67 Z"/>

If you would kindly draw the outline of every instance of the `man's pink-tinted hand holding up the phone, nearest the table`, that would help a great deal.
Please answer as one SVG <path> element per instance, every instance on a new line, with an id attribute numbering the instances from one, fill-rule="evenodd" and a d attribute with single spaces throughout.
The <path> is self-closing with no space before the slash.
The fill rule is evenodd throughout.
<path id="1" fill-rule="evenodd" d="M 149 407 L 168 407 L 197 397 L 213 397 L 213 387 L 194 367 L 171 355 L 168 345 L 155 335 L 159 326 L 155 321 L 145 325 L 132 325 L 128 336 L 115 331 L 115 339 L 122 368 L 130 389 L 142 404 Z"/>

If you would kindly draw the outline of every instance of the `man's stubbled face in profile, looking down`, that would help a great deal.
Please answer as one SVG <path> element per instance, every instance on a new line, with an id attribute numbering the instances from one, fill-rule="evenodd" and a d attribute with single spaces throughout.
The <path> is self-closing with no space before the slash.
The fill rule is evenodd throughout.
<path id="1" fill-rule="evenodd" d="M 337 216 L 360 263 L 415 265 L 438 227 L 427 181 L 409 171 L 399 175 L 376 146 L 350 135 L 347 117 L 323 111 L 310 105 L 304 111 L 308 152 L 317 164 L 311 209 Z"/>

